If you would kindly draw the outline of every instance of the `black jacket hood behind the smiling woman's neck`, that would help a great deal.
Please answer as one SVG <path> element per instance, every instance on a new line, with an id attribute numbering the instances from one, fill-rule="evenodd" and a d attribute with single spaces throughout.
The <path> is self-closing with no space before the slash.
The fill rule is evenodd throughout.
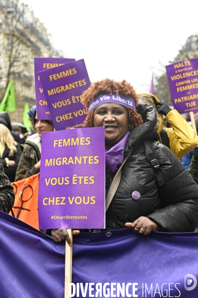
<path id="1" fill-rule="evenodd" d="M 153 106 L 146 103 L 139 103 L 137 112 L 142 116 L 143 124 L 134 128 L 127 140 L 125 152 L 132 150 L 134 144 L 143 140 L 157 140 L 155 125 L 157 116 Z"/>

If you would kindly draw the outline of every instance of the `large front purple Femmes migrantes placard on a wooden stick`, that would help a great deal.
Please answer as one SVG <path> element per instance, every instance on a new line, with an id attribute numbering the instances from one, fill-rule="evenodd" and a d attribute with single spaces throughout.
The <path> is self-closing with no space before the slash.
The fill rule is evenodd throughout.
<path id="1" fill-rule="evenodd" d="M 104 228 L 104 127 L 42 133 L 39 228 Z"/>

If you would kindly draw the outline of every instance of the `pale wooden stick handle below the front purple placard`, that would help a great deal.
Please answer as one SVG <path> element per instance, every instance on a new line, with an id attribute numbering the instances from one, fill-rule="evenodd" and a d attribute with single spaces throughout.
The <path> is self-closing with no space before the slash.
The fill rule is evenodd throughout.
<path id="1" fill-rule="evenodd" d="M 72 230 L 66 229 L 72 241 Z M 71 283 L 72 274 L 72 246 L 66 242 L 66 259 L 65 259 L 65 298 L 69 298 L 69 283 Z"/>

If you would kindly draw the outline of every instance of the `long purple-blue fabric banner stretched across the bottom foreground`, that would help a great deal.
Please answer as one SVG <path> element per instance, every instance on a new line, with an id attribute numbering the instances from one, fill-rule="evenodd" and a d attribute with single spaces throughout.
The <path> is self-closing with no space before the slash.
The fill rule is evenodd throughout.
<path id="1" fill-rule="evenodd" d="M 0 298 L 64 298 L 65 243 L 1 211 L 0 232 Z M 197 279 L 198 233 L 73 236 L 72 297 L 197 298 Z"/>

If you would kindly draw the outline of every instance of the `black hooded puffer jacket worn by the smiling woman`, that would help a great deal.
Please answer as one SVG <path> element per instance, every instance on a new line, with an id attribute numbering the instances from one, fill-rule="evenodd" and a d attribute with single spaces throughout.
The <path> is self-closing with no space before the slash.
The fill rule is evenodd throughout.
<path id="1" fill-rule="evenodd" d="M 138 112 L 144 124 L 132 130 L 127 140 L 125 154 L 132 153 L 122 168 L 119 187 L 107 210 L 106 230 L 125 228 L 126 222 L 147 216 L 164 232 L 192 232 L 198 221 L 198 186 L 172 151 L 156 141 L 154 108 L 139 104 Z M 158 155 L 165 181 L 162 187 L 157 185 L 153 167 L 146 159 L 145 139 Z M 106 171 L 106 195 L 116 172 Z M 134 191 L 140 193 L 140 199 L 132 199 Z"/>

